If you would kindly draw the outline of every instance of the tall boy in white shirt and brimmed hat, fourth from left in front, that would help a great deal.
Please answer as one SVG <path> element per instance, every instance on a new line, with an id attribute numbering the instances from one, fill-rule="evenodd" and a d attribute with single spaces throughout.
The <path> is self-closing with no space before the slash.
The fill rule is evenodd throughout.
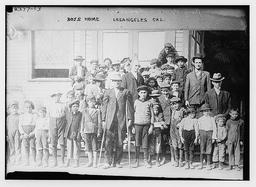
<path id="1" fill-rule="evenodd" d="M 64 165 L 64 156 L 66 152 L 66 146 L 65 146 L 66 141 L 64 138 L 64 133 L 66 128 L 67 105 L 60 101 L 61 95 L 62 93 L 56 90 L 50 96 L 52 97 L 52 104 L 49 107 L 49 116 L 50 116 L 49 133 L 51 137 L 52 156 L 53 156 L 53 164 L 50 166 L 51 168 L 56 167 L 58 165 L 58 162 L 57 162 L 58 139 L 60 144 L 60 158 L 61 158 L 61 162 L 59 165 L 60 168 L 62 168 Z"/>

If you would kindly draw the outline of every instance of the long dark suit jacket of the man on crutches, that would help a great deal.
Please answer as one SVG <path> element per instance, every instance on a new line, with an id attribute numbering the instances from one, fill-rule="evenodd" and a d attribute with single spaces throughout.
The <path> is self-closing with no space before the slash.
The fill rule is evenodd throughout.
<path id="1" fill-rule="evenodd" d="M 106 120 L 107 105 L 108 107 L 108 118 L 106 121 L 106 128 L 109 130 L 114 116 L 116 114 L 118 119 L 118 125 L 122 131 L 126 131 L 126 101 L 128 108 L 128 120 L 134 118 L 132 94 L 129 90 L 120 88 L 117 97 L 115 95 L 114 88 L 107 90 L 104 94 L 102 102 L 102 121 Z"/>

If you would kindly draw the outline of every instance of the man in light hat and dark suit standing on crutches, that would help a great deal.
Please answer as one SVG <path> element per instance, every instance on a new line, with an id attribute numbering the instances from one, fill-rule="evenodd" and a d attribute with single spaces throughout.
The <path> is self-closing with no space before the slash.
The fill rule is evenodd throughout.
<path id="1" fill-rule="evenodd" d="M 125 133 L 127 133 L 126 103 L 128 109 L 128 126 L 131 126 L 133 119 L 133 103 L 131 92 L 121 87 L 123 79 L 121 78 L 120 74 L 112 74 L 111 80 L 113 81 L 112 85 L 114 88 L 105 92 L 102 102 L 103 128 L 106 125 L 105 159 L 102 169 L 107 169 L 112 163 L 114 144 L 116 146 L 116 151 L 114 155 L 113 167 L 122 168 L 120 162 L 123 156 L 123 140 L 125 139 Z M 107 115 L 107 106 L 108 117 L 107 121 L 105 121 Z"/>

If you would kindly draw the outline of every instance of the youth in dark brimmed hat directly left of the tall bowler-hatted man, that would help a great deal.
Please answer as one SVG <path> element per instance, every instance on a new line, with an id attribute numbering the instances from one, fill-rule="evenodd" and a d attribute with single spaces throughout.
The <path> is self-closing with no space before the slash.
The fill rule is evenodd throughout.
<path id="1" fill-rule="evenodd" d="M 186 85 L 186 78 L 188 73 L 191 72 L 191 69 L 185 66 L 188 59 L 184 56 L 178 56 L 175 59 L 175 62 L 178 64 L 179 68 L 175 69 L 172 74 L 172 81 L 179 81 L 180 85 L 178 90 L 185 94 L 185 85 Z"/>

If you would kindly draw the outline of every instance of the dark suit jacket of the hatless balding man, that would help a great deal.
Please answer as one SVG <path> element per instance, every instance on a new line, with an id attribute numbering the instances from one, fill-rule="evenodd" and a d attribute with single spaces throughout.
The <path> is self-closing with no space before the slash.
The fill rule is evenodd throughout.
<path id="1" fill-rule="evenodd" d="M 137 73 L 137 76 L 138 76 L 139 86 L 145 85 L 144 79 L 141 76 L 141 74 Z M 129 72 L 124 74 L 122 78 L 124 80 L 122 80 L 121 87 L 123 87 L 124 89 L 130 90 L 132 94 L 132 103 L 134 103 L 134 101 L 138 99 L 137 84 L 135 81 L 135 77 L 132 75 L 132 72 Z"/>

